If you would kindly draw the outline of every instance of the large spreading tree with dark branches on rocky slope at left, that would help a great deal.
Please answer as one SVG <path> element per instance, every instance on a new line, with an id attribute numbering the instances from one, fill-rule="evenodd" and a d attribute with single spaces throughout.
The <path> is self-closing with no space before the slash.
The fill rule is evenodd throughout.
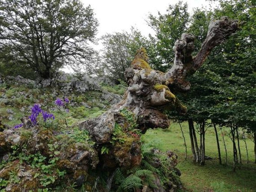
<path id="1" fill-rule="evenodd" d="M 9 50 L 3 58 L 43 78 L 74 62 L 89 67 L 97 27 L 92 8 L 79 0 L 0 0 L 0 49 Z"/>

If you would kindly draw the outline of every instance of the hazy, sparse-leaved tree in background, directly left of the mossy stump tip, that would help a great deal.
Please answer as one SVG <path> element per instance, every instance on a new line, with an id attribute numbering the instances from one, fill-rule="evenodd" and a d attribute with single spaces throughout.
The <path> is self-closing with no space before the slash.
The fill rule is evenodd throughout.
<path id="1" fill-rule="evenodd" d="M 131 32 L 115 32 L 101 37 L 104 49 L 101 50 L 101 67 L 104 75 L 125 81 L 124 71 L 132 62 L 133 56 L 140 47 L 148 44 L 141 32 L 135 28 Z"/>

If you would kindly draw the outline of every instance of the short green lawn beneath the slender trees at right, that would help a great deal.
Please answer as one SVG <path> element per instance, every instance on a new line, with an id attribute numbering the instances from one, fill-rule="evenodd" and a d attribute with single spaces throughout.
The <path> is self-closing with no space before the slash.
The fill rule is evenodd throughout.
<path id="1" fill-rule="evenodd" d="M 244 142 L 240 140 L 240 148 L 243 164 L 236 172 L 232 171 L 232 143 L 228 136 L 228 129 L 223 131 L 228 150 L 227 165 L 219 165 L 218 150 L 213 128 L 209 127 L 206 132 L 206 155 L 213 160 L 206 160 L 206 165 L 199 166 L 192 161 L 192 153 L 189 140 L 187 123 L 182 123 L 186 144 L 188 147 L 188 158 L 185 161 L 185 146 L 179 124 L 173 123 L 169 129 L 148 130 L 142 140 L 162 151 L 174 151 L 178 155 L 177 168 L 182 172 L 181 181 L 184 189 L 182 191 L 204 192 L 214 190 L 215 192 L 253 192 L 256 187 L 256 166 L 254 162 L 254 144 L 246 139 L 249 153 L 249 164 L 246 163 L 246 149 Z M 219 142 L 222 154 L 222 162 L 225 161 L 225 149 L 219 131 Z M 199 141 L 198 141 L 199 142 Z"/>

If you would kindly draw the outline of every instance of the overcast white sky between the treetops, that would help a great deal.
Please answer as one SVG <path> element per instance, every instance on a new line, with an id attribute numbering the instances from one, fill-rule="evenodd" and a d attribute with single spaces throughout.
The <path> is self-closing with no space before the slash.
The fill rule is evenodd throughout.
<path id="1" fill-rule="evenodd" d="M 99 21 L 98 37 L 105 33 L 129 31 L 133 26 L 147 36 L 151 29 L 146 24 L 149 13 L 166 13 L 169 4 L 178 0 L 82 0 L 84 5 L 91 5 Z M 186 2 L 184 0 L 184 2 Z M 189 11 L 193 7 L 207 6 L 205 0 L 189 0 Z"/>

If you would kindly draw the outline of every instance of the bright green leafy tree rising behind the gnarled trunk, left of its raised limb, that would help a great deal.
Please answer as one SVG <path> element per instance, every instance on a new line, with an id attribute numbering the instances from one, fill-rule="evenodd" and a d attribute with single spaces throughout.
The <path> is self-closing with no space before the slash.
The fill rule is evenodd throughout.
<path id="1" fill-rule="evenodd" d="M 188 4 L 179 1 L 169 5 L 165 14 L 158 12 L 148 17 L 148 25 L 155 31 L 155 37 L 150 35 L 151 48 L 148 49 L 149 63 L 154 69 L 165 72 L 173 64 L 174 52 L 172 46 L 181 37 L 189 24 Z"/>

